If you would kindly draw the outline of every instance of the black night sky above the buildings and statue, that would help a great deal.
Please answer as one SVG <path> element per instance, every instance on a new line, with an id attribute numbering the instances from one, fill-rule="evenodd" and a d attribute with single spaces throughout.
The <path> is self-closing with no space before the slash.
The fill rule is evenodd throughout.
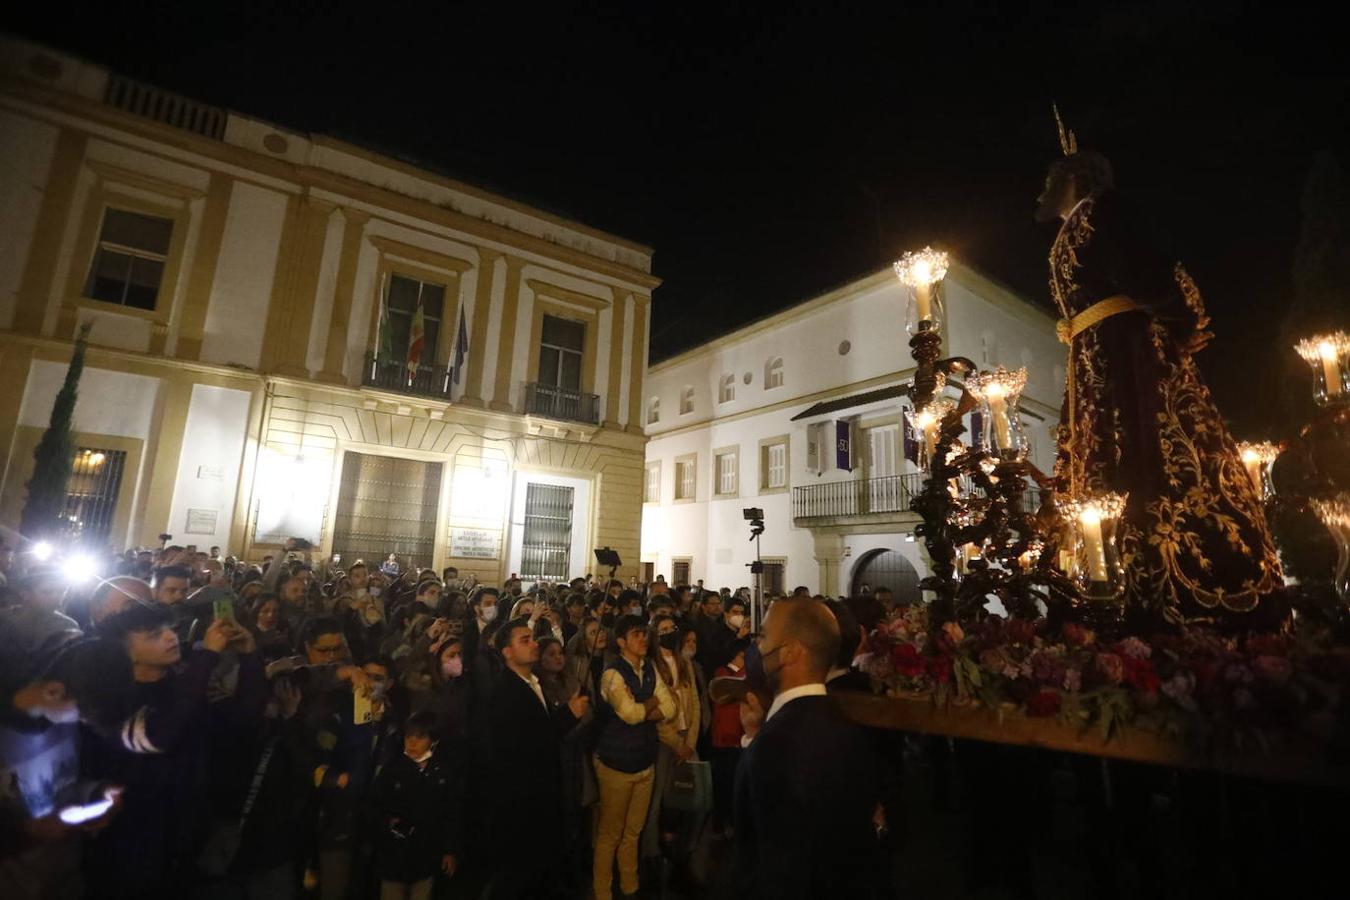
<path id="1" fill-rule="evenodd" d="M 1049 305 L 1057 100 L 1204 290 L 1235 433 L 1305 390 L 1274 335 L 1350 78 L 1343 28 L 1289 4 L 86 5 L 0 27 L 653 246 L 653 360 L 925 243 Z"/>

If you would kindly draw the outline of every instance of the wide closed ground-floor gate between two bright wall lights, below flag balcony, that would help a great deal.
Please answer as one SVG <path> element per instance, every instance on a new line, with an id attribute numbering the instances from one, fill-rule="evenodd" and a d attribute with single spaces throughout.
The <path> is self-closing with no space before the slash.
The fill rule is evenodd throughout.
<path id="1" fill-rule="evenodd" d="M 436 553 L 440 463 L 348 452 L 342 463 L 333 553 L 344 565 L 371 565 L 398 553 L 404 568 L 431 565 Z"/>

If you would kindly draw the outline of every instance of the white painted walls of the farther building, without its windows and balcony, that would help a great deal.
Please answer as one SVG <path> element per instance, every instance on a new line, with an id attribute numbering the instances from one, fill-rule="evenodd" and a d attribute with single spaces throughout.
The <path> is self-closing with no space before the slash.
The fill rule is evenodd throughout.
<path id="1" fill-rule="evenodd" d="M 846 397 L 864 390 L 900 385 L 909 379 L 913 359 L 905 333 L 905 294 L 894 275 L 882 273 L 825 298 L 807 301 L 798 308 L 733 332 L 709 347 L 657 364 L 647 372 L 647 395 L 660 398 L 662 418 L 647 426 L 648 463 L 660 461 L 660 503 L 643 507 L 641 551 L 644 561 L 655 561 L 656 571 L 671 575 L 671 560 L 693 560 L 693 578 L 716 587 L 749 584 L 745 563 L 753 559 L 748 541 L 749 528 L 741 510 L 757 506 L 764 510 L 767 529 L 761 538 L 764 557 L 786 557 L 786 587 L 806 584 L 813 590 L 842 594 L 849 588 L 857 561 L 871 549 L 890 548 L 906 555 L 921 575 L 926 571 L 921 548 L 905 540 L 906 528 L 896 526 L 887 534 L 852 534 L 840 567 L 840 583 L 818 584 L 819 567 L 814 557 L 810 529 L 792 524 L 791 488 L 819 482 L 852 480 L 865 476 L 834 468 L 833 449 L 828 448 L 825 471 L 819 475 L 806 468 L 807 426 L 828 422 L 833 437 L 836 418 L 859 417 L 864 422 L 895 416 L 900 399 L 855 406 L 828 416 L 791 421 L 794 416 L 821 399 Z M 975 273 L 953 267 L 948 275 L 946 352 L 971 356 L 981 363 L 981 335 L 992 331 L 998 337 L 998 358 L 1010 368 L 1029 366 L 1029 413 L 1023 422 L 1033 434 L 1034 461 L 1049 471 L 1053 445 L 1049 425 L 1058 407 L 1062 385 L 1056 382 L 1062 363 L 1062 348 L 1056 341 L 1053 318 L 991 285 Z M 841 354 L 841 343 L 848 341 Z M 784 383 L 765 389 L 765 363 L 783 358 Z M 734 399 L 720 403 L 718 387 L 726 374 L 736 376 Z M 745 375 L 749 374 L 749 383 Z M 694 409 L 680 414 L 680 394 L 694 387 Z M 1030 413 L 1042 416 L 1035 420 Z M 967 422 L 969 426 L 969 421 Z M 788 434 L 788 493 L 760 494 L 759 448 L 763 439 Z M 734 498 L 713 495 L 713 452 L 738 447 L 740 493 Z M 857 448 L 861 455 L 865 448 Z M 698 456 L 695 502 L 674 501 L 675 460 L 687 453 Z M 907 460 L 898 471 L 917 471 Z"/>

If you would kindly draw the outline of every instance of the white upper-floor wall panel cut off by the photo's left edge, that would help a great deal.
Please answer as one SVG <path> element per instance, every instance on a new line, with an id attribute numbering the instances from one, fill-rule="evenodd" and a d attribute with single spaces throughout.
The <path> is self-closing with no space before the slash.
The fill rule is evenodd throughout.
<path id="1" fill-rule="evenodd" d="M 0 111 L 0 328 L 14 327 L 16 291 L 42 209 L 57 128 Z"/>

